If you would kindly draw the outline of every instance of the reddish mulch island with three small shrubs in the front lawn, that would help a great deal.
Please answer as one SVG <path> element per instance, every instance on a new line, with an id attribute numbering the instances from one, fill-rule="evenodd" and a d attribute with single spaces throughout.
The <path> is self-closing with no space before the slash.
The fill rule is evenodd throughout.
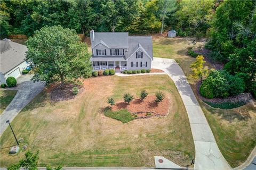
<path id="1" fill-rule="evenodd" d="M 149 118 L 149 117 L 160 117 L 165 116 L 169 113 L 170 101 L 167 97 L 163 101 L 156 103 L 155 95 L 147 96 L 143 101 L 140 99 L 134 99 L 130 105 L 126 102 L 118 102 L 112 106 L 113 111 L 120 109 L 127 109 L 133 115 L 137 115 L 136 118 Z"/>

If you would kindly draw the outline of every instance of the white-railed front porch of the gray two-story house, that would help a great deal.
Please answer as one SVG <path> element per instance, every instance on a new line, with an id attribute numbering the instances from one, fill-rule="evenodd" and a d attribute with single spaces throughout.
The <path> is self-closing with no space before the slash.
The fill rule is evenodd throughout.
<path id="1" fill-rule="evenodd" d="M 124 71 L 127 70 L 127 61 L 93 61 L 92 62 L 93 70 L 106 70 L 106 69 L 115 69 Z"/>

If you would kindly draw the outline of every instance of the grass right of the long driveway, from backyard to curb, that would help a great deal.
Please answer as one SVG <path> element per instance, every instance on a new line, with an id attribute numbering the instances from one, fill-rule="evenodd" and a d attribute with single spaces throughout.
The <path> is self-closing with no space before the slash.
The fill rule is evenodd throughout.
<path id="1" fill-rule="evenodd" d="M 176 60 L 184 71 L 195 92 L 195 80 L 189 77 L 190 64 L 195 61 L 186 54 L 189 38 L 167 38 L 154 36 L 154 57 L 172 58 Z M 197 43 L 201 46 L 203 43 Z M 212 67 L 210 63 L 207 66 Z M 195 92 L 196 94 L 196 92 Z M 250 155 L 256 145 L 256 108 L 247 104 L 234 109 L 226 109 L 230 104 L 214 105 L 225 109 L 212 108 L 197 97 L 204 114 L 210 124 L 218 146 L 231 167 L 241 165 Z M 239 104 L 237 104 L 239 105 Z"/>

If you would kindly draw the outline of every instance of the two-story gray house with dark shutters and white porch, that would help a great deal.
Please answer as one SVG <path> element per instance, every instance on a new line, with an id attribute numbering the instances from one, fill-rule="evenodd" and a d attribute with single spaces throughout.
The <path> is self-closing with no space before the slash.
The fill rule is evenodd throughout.
<path id="1" fill-rule="evenodd" d="M 93 70 L 151 69 L 151 36 L 129 36 L 128 32 L 90 31 Z"/>

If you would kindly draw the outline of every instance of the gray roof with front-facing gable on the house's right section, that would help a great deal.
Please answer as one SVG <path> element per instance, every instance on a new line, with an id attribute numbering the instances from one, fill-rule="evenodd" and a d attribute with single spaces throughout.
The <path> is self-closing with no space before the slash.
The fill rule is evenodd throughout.
<path id="1" fill-rule="evenodd" d="M 138 48 L 144 49 L 153 60 L 153 45 L 151 36 L 129 36 L 129 49 L 127 57 L 130 57 Z"/>

